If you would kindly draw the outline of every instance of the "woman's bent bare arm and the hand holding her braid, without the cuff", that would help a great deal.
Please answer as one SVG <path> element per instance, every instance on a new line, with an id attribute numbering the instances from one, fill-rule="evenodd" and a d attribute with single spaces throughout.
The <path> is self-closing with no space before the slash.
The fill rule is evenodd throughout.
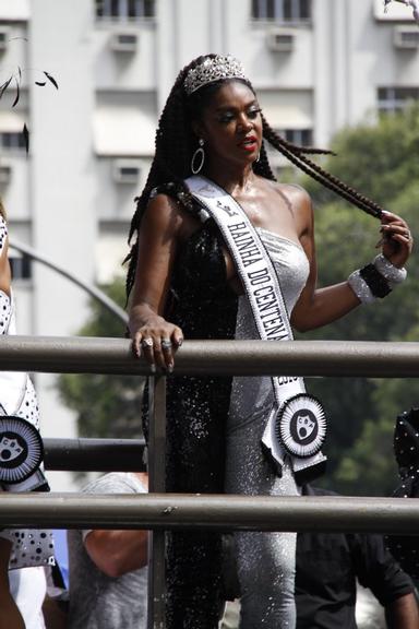
<path id="1" fill-rule="evenodd" d="M 291 323 L 300 332 L 306 332 L 340 319 L 359 306 L 360 300 L 347 281 L 316 288 L 314 217 L 310 197 L 300 190 L 298 198 L 292 199 L 292 207 L 300 241 L 310 263 L 310 274 L 292 311 Z M 407 224 L 399 216 L 386 212 L 381 230 L 383 254 L 395 266 L 402 268 L 411 251 L 411 238 L 406 236 L 409 234 Z"/>

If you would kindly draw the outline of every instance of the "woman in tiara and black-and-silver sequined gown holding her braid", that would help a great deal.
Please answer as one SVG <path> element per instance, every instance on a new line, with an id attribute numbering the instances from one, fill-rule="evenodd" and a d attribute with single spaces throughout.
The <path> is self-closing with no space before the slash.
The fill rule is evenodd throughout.
<path id="1" fill-rule="evenodd" d="M 168 373 L 183 337 L 258 339 L 219 230 L 184 185 L 202 161 L 202 147 L 200 174 L 232 195 L 256 227 L 292 325 L 318 328 L 360 304 L 347 282 L 316 288 L 310 198 L 275 180 L 263 141 L 306 170 L 312 163 L 271 129 L 253 87 L 229 59 L 201 57 L 178 75 L 131 226 L 130 238 L 136 236 L 128 274 L 133 351 Z M 332 186 L 327 173 L 320 171 L 326 186 L 358 206 L 364 209 L 368 201 L 378 207 L 338 180 Z M 411 249 L 408 227 L 386 213 L 381 228 L 390 234 L 384 254 L 403 266 Z M 273 404 L 270 378 L 175 372 L 168 378 L 167 490 L 297 495 L 289 464 L 279 478 L 261 448 Z M 295 627 L 295 543 L 294 533 L 237 535 L 242 629 Z M 168 535 L 167 629 L 215 629 L 219 596 L 219 536 L 205 531 Z"/>

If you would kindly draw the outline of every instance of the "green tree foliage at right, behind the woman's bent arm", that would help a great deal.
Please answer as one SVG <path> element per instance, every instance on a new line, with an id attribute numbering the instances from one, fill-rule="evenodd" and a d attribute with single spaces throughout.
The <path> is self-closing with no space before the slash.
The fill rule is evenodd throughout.
<path id="1" fill-rule="evenodd" d="M 337 157 L 324 167 L 405 217 L 415 235 L 419 209 L 419 108 L 385 116 L 338 134 Z M 380 224 L 312 180 L 303 181 L 315 211 L 319 284 L 342 282 L 376 254 Z M 301 339 L 417 341 L 419 269 L 415 252 L 408 280 L 388 297 Z M 388 495 L 397 484 L 393 430 L 397 414 L 419 405 L 412 379 L 327 378 L 308 382 L 330 416 L 323 484 L 346 494 Z"/>

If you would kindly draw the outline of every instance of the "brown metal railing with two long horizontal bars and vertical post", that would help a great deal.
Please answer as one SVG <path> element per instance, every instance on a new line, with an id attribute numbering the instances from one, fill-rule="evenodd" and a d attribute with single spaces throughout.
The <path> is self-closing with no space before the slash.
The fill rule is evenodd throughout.
<path id="1" fill-rule="evenodd" d="M 15 371 L 151 375 L 134 358 L 131 343 L 117 339 L 29 337 L 0 339 L 0 367 Z M 322 341 L 189 341 L 176 359 L 176 372 L 228 376 L 361 376 L 418 377 L 419 344 Z M 151 529 L 149 628 L 164 627 L 164 532 L 169 529 L 259 531 L 346 531 L 416 534 L 419 501 L 392 498 L 246 497 L 165 494 L 166 379 L 153 378 L 151 388 L 149 494 L 87 496 L 85 494 L 11 495 L 0 500 L 3 526 L 62 529 Z M 111 444 L 88 447 L 106 452 Z M 48 440 L 46 462 L 52 456 Z M 57 444 L 56 444 L 57 446 Z M 117 443 L 118 446 L 118 443 Z M 131 448 L 130 470 L 142 468 L 140 443 Z M 142 444 L 141 444 L 142 447 Z M 86 443 L 72 444 L 71 456 L 83 456 Z M 95 450 L 96 449 L 96 450 Z M 79 452 L 75 454 L 75 450 Z M 56 448 L 57 451 L 57 448 Z M 137 466 L 135 455 L 139 452 Z M 107 455 L 103 458 L 104 470 Z M 92 455 L 91 455 L 92 459 Z M 86 461 L 86 456 L 85 456 Z M 70 461 L 68 462 L 70 465 Z M 74 463 L 73 463 L 74 464 Z M 87 464 L 87 462 L 86 462 Z M 91 462 L 92 464 L 92 462 Z M 98 459 L 95 468 L 100 467 Z M 60 467 L 63 468 L 63 467 Z M 93 467 L 87 467 L 93 468 Z M 112 467 L 115 468 L 115 467 Z M 122 468 L 122 467 L 121 467 Z"/>

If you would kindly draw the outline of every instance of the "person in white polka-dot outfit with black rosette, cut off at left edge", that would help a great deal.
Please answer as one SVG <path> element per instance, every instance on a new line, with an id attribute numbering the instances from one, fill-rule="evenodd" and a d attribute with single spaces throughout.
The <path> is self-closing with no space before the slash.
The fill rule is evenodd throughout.
<path id="1" fill-rule="evenodd" d="M 1 201 L 0 334 L 15 334 L 15 305 L 8 259 L 8 227 Z M 13 426 L 12 432 L 10 426 Z M 16 432 L 14 432 L 14 427 L 16 427 Z M 38 456 L 39 459 L 41 443 L 39 446 L 38 430 L 38 402 L 29 377 L 22 372 L 0 371 L 0 444 L 2 446 L 0 490 L 45 491 L 49 489 L 38 463 L 31 466 L 31 470 L 28 467 L 24 476 L 17 474 L 17 465 L 13 466 L 13 459 L 15 458 L 15 461 L 19 462 L 20 456 L 23 456 L 25 452 L 25 463 L 31 460 L 32 453 L 34 453 L 34 458 Z M 10 438 L 10 435 L 20 435 L 20 431 L 22 439 L 20 437 L 17 439 Z M 36 452 L 36 450 L 38 451 Z M 8 451 L 9 459 L 3 455 L 5 451 Z M 9 530 L 1 529 L 0 525 L 0 629 L 25 628 L 22 614 L 11 595 L 9 571 L 31 566 L 51 565 L 53 561 L 53 541 L 50 531 Z"/>

